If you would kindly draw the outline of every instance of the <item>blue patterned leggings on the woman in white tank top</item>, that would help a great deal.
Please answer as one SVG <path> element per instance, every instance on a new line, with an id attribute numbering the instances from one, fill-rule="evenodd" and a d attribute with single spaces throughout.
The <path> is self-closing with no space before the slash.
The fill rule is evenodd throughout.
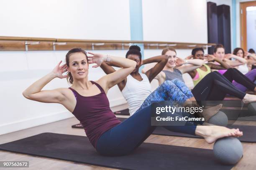
<path id="1" fill-rule="evenodd" d="M 172 81 L 166 80 L 155 91 L 153 91 L 143 102 L 141 107 L 136 111 L 150 106 L 151 101 L 169 101 L 169 104 L 182 105 L 187 99 L 194 97 L 189 88 L 179 79 L 173 79 Z M 177 103 L 174 103 L 177 102 Z"/>

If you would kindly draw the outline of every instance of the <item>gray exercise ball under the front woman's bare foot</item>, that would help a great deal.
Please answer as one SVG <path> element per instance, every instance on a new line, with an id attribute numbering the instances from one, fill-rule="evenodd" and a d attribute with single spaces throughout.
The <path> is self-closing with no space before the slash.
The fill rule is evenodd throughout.
<path id="1" fill-rule="evenodd" d="M 243 156 L 243 146 L 236 137 L 223 137 L 215 142 L 213 152 L 219 162 L 234 165 Z"/>

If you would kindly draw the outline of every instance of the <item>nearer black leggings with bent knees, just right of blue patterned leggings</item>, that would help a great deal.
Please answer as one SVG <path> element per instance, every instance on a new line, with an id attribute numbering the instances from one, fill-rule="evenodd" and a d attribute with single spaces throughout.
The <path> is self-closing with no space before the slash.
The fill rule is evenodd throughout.
<path id="1" fill-rule="evenodd" d="M 218 71 L 207 74 L 194 89 L 192 89 L 192 94 L 197 101 L 222 101 L 226 94 L 243 99 L 246 95 L 246 93 L 238 90 Z"/>

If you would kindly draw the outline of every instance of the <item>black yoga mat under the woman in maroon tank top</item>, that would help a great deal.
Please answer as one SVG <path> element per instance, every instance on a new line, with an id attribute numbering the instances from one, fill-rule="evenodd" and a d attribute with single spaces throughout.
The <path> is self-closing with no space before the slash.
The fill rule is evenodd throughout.
<path id="1" fill-rule="evenodd" d="M 143 143 L 125 156 L 99 155 L 87 137 L 42 133 L 0 145 L 0 150 L 127 170 L 230 170 L 221 165 L 212 150 Z"/>

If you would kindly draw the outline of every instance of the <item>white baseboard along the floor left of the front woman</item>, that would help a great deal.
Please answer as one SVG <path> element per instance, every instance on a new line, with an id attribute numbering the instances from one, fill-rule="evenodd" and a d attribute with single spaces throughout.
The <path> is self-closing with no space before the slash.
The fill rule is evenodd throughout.
<path id="1" fill-rule="evenodd" d="M 56 122 L 63 119 L 68 119 L 74 117 L 74 115 L 68 111 L 46 114 L 41 117 L 34 117 L 32 119 L 20 120 L 17 122 L 12 122 L 8 124 L 0 125 L 0 135 L 7 134 L 10 132 L 16 132 L 23 129 L 28 129 L 31 127 L 40 126 L 47 123 Z"/>

